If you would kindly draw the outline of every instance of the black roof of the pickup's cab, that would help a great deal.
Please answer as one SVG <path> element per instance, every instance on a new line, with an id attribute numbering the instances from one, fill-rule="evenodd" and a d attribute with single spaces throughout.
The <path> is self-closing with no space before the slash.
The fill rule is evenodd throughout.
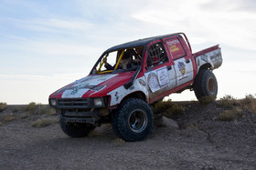
<path id="1" fill-rule="evenodd" d="M 144 45 L 147 45 L 155 40 L 163 39 L 165 37 L 172 36 L 172 35 L 178 35 L 178 34 L 158 35 L 158 36 L 152 36 L 152 37 L 148 37 L 148 38 L 144 38 L 144 39 L 139 39 L 139 40 L 131 41 L 128 43 L 124 43 L 122 45 L 112 46 L 111 48 L 107 49 L 105 52 L 112 52 L 112 51 L 116 51 L 116 50 L 123 49 L 123 48 L 132 48 L 135 46 L 144 46 Z"/>

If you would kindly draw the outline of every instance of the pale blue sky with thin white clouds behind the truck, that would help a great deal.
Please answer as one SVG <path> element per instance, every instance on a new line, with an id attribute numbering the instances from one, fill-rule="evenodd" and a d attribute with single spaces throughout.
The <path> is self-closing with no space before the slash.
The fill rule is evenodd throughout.
<path id="1" fill-rule="evenodd" d="M 194 53 L 220 45 L 219 98 L 256 94 L 255 0 L 0 0 L 0 102 L 47 104 L 113 45 L 177 32 Z"/>

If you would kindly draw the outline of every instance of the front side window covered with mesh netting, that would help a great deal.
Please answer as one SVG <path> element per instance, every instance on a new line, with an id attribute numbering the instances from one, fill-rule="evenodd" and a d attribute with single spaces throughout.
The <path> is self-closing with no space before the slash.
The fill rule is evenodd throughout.
<path id="1" fill-rule="evenodd" d="M 146 59 L 147 68 L 162 65 L 165 62 L 168 62 L 168 57 L 165 53 L 164 45 L 159 42 L 149 46 Z"/>

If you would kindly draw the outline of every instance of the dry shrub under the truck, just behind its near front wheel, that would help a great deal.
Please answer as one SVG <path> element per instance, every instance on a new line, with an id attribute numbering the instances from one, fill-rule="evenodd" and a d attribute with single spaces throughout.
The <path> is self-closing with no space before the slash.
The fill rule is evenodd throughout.
<path id="1" fill-rule="evenodd" d="M 174 104 L 171 99 L 167 101 L 159 101 L 151 107 L 154 114 L 162 114 L 168 118 L 174 115 L 183 114 L 184 109 L 181 105 Z"/>

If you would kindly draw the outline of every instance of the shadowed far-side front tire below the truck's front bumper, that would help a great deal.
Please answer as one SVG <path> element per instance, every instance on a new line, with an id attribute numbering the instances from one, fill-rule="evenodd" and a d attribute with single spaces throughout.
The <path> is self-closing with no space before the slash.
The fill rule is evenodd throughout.
<path id="1" fill-rule="evenodd" d="M 70 137 L 87 136 L 91 130 L 95 128 L 88 124 L 66 122 L 65 118 L 62 116 L 59 117 L 59 124 L 62 131 Z"/>

